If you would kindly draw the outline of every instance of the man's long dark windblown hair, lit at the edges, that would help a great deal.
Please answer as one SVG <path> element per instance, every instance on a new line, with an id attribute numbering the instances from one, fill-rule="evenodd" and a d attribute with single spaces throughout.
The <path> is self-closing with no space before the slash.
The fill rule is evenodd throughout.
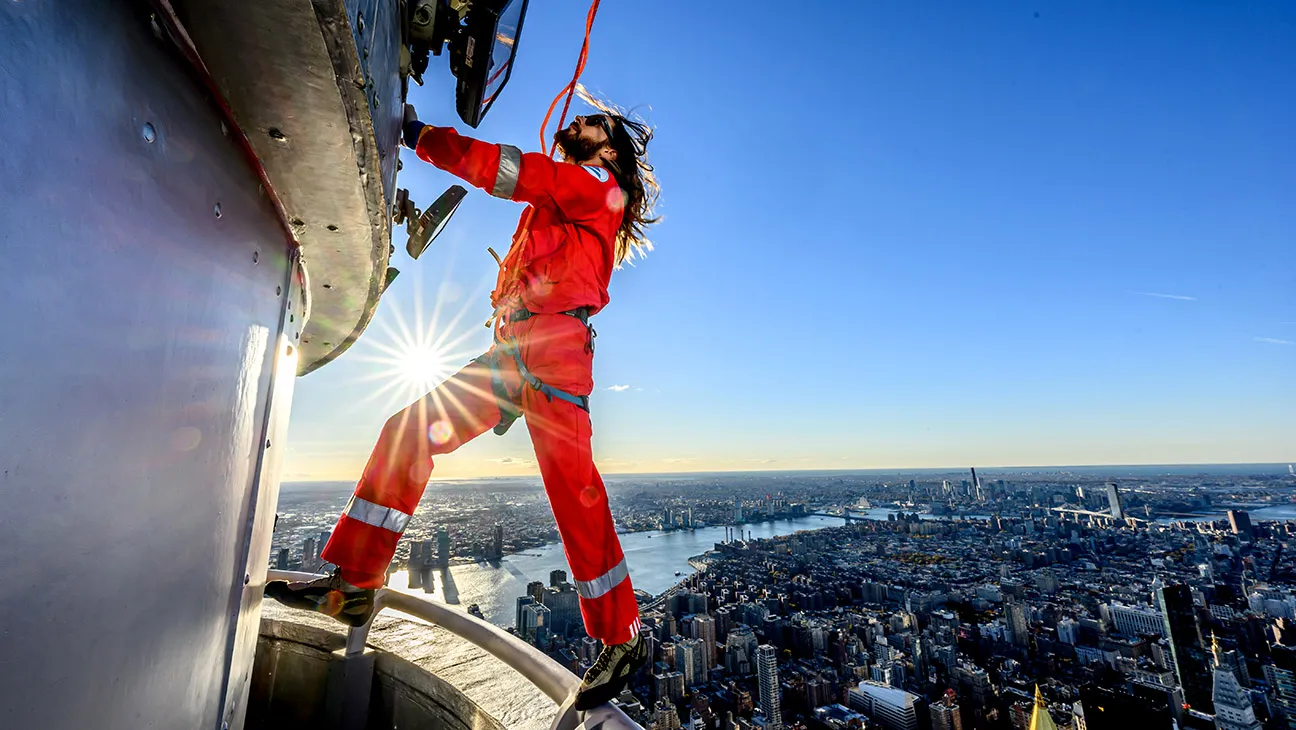
<path id="1" fill-rule="evenodd" d="M 643 258 L 652 250 L 648 227 L 661 220 L 653 215 L 661 188 L 657 185 L 652 165 L 648 163 L 652 127 L 629 118 L 626 113 L 591 95 L 583 86 L 577 87 L 577 92 L 582 101 L 613 121 L 612 149 L 617 152 L 617 161 L 609 165 L 609 170 L 621 185 L 621 191 L 626 193 L 625 217 L 621 219 L 621 228 L 617 230 L 616 242 L 616 262 L 621 266 L 626 261 L 634 261 L 636 255 Z"/>

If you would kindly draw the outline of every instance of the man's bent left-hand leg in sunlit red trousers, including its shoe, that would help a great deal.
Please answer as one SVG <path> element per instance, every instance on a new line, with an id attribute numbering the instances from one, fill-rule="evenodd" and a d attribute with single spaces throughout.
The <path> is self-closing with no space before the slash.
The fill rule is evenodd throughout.
<path id="1" fill-rule="evenodd" d="M 314 581 L 272 581 L 266 595 L 351 626 L 369 620 L 373 590 L 382 587 L 397 542 L 419 507 L 432 476 L 432 456 L 454 451 L 499 421 L 489 357 L 477 358 L 388 419 L 355 494 L 320 554 L 338 569 Z M 504 377 L 516 380 L 516 371 Z"/>

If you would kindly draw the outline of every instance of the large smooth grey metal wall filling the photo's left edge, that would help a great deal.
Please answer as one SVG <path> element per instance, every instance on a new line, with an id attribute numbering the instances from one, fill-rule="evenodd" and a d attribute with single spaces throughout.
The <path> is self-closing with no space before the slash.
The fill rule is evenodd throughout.
<path id="1" fill-rule="evenodd" d="M 292 250 L 146 9 L 0 38 L 0 725 L 218 729 Z"/>

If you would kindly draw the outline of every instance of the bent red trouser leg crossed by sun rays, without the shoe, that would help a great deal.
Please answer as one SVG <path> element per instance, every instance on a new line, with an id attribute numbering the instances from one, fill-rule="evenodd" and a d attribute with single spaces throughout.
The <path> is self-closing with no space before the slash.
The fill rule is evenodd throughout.
<path id="1" fill-rule="evenodd" d="M 505 373 L 505 377 L 516 383 L 517 375 Z M 481 360 L 473 360 L 388 419 L 355 495 L 320 558 L 349 574 L 365 573 L 369 576 L 365 582 L 381 586 L 400 533 L 428 486 L 432 456 L 454 451 L 498 421 L 499 405 L 491 393 L 490 368 Z"/>

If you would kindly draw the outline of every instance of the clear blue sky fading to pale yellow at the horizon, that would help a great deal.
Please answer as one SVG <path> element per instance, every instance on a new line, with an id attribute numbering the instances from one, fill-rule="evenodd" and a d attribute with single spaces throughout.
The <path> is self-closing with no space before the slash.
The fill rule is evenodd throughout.
<path id="1" fill-rule="evenodd" d="M 581 5 L 533 3 L 460 131 L 537 148 Z M 802 5 L 603 4 L 583 82 L 656 126 L 665 215 L 596 318 L 604 472 L 1296 459 L 1296 6 Z M 454 182 L 403 159 L 422 204 Z M 415 394 L 375 362 L 398 322 L 489 346 L 520 213 L 472 192 L 417 262 L 399 232 L 375 324 L 297 383 L 285 478 L 359 475 Z M 434 476 L 518 473 L 520 428 Z"/>

